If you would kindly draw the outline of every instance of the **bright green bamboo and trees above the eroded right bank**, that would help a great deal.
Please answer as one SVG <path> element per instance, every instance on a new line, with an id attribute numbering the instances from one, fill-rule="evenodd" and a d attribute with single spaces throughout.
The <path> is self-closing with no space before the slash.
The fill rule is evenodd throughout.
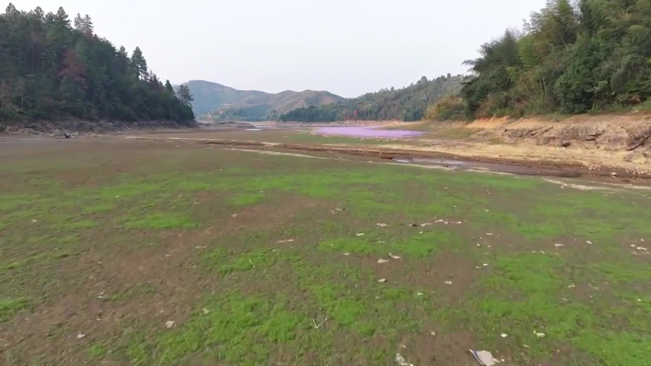
<path id="1" fill-rule="evenodd" d="M 651 96 L 651 0 L 549 1 L 466 61 L 469 118 L 612 111 Z"/>

